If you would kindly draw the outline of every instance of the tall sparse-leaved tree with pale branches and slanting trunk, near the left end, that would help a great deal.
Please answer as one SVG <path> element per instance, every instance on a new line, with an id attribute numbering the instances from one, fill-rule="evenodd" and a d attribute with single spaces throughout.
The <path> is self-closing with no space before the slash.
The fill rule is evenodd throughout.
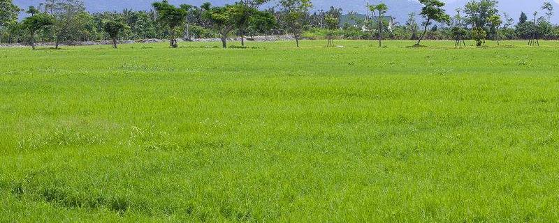
<path id="1" fill-rule="evenodd" d="M 45 0 L 41 3 L 46 13 L 55 18 L 52 31 L 55 34 L 55 48 L 58 49 L 61 40 L 72 32 L 72 29 L 80 29 L 83 20 L 80 15 L 85 12 L 85 5 L 81 0 Z"/>

